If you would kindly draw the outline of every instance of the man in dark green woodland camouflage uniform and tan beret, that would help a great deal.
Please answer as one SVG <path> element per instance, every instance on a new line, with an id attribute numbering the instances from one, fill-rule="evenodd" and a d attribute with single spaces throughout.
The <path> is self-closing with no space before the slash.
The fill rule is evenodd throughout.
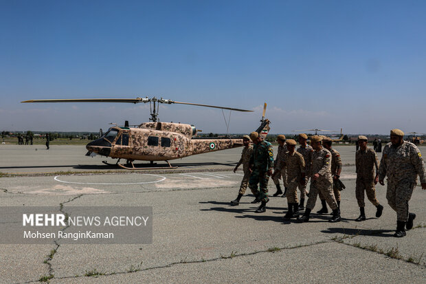
<path id="1" fill-rule="evenodd" d="M 254 146 L 250 159 L 249 188 L 252 192 L 256 192 L 256 198 L 262 202 L 256 213 L 262 213 L 266 211 L 266 204 L 269 201 L 268 181 L 272 175 L 273 151 L 271 143 L 262 140 L 262 137 L 256 131 L 250 133 L 250 138 Z M 260 185 L 259 189 L 258 184 Z"/>

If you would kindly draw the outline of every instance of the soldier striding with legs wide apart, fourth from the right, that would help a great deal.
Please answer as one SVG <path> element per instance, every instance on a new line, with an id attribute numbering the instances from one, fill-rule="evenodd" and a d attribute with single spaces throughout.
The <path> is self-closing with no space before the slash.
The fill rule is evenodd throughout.
<path id="1" fill-rule="evenodd" d="M 298 218 L 300 223 L 309 221 L 309 215 L 311 215 L 311 210 L 315 207 L 317 195 L 320 191 L 326 198 L 328 206 L 333 209 L 333 217 L 328 221 L 334 223 L 341 220 L 340 211 L 337 207 L 333 189 L 331 188 L 333 184 L 333 177 L 331 176 L 331 153 L 322 147 L 321 142 L 322 138 L 320 136 L 314 135 L 311 137 L 311 146 L 314 149 L 310 173 L 312 181 L 306 210 L 304 215 Z"/>

